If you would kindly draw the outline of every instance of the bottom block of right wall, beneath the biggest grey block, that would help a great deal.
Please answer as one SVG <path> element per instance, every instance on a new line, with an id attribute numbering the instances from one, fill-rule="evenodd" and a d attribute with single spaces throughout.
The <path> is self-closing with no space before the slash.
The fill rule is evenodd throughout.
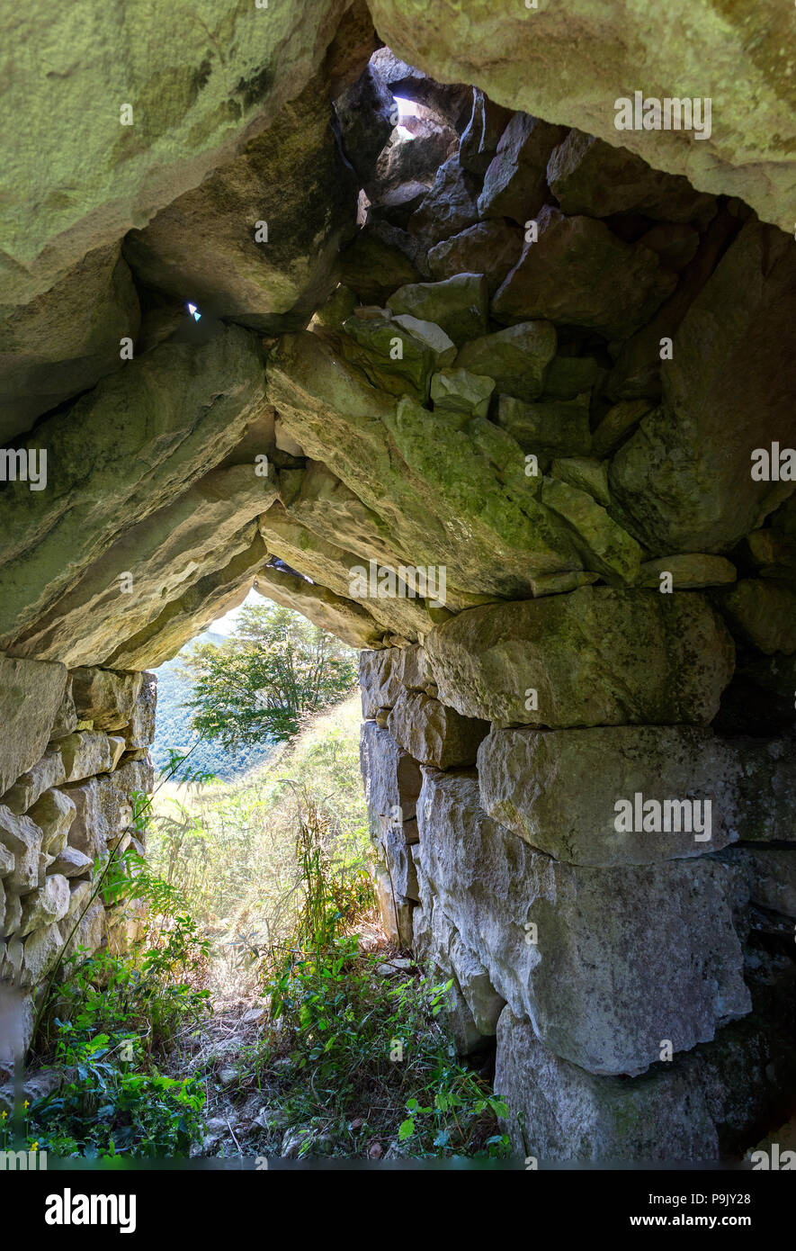
<path id="1" fill-rule="evenodd" d="M 506 1007 L 495 1091 L 509 1105 L 515 1150 L 525 1155 L 527 1147 L 540 1161 L 709 1162 L 737 1158 L 750 1128 L 792 1098 L 795 1065 L 792 1037 L 737 1022 L 642 1077 L 597 1077 L 555 1056 Z"/>

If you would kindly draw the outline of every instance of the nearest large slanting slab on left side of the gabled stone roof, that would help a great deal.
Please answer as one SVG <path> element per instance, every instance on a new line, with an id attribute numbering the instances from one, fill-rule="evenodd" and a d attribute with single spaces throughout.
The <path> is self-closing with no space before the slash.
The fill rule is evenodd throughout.
<path id="1" fill-rule="evenodd" d="M 36 429 L 57 492 L 9 483 L 0 524 L 0 641 L 10 643 L 111 545 L 221 460 L 262 404 L 256 338 L 221 327 L 164 343 Z"/>

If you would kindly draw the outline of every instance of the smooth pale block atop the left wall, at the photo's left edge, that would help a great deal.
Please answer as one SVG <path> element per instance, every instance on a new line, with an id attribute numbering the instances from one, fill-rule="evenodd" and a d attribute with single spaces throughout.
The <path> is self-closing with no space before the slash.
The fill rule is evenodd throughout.
<path id="1" fill-rule="evenodd" d="M 65 691 L 62 664 L 0 654 L 0 794 L 44 756 Z"/>

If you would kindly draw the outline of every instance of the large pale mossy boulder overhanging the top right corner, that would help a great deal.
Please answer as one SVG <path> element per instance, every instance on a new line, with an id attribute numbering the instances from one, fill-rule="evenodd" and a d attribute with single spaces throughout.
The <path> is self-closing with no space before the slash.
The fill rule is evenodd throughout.
<path id="1" fill-rule="evenodd" d="M 779 55 L 790 14 L 770 0 L 754 14 L 719 10 L 712 0 L 675 0 L 666 38 L 645 0 L 621 9 L 595 8 L 592 0 L 500 9 L 371 0 L 370 9 L 394 53 L 427 74 L 476 81 L 496 104 L 626 146 L 701 191 L 741 196 L 764 220 L 792 230 L 792 89 Z M 711 124 L 700 131 L 619 130 L 616 104 L 632 104 L 639 65 L 646 93 L 659 101 L 672 91 L 700 105 L 710 96 Z"/>

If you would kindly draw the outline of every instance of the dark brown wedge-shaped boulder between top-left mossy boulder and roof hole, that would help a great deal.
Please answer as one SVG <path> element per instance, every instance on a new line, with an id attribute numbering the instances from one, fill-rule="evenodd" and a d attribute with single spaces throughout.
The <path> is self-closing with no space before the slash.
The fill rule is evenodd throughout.
<path id="1" fill-rule="evenodd" d="M 311 83 L 240 156 L 130 231 L 125 256 L 146 285 L 204 313 L 266 334 L 297 329 L 336 285 L 356 190 Z"/>

